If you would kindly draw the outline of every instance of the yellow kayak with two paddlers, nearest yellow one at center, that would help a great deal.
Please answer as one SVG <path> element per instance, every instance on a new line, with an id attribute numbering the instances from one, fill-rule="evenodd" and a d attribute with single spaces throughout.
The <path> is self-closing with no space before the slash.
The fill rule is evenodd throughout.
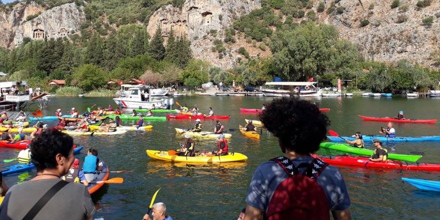
<path id="1" fill-rule="evenodd" d="M 177 156 L 168 155 L 167 151 L 162 150 L 146 150 L 146 154 L 152 159 L 160 159 L 172 162 L 203 162 L 203 163 L 213 163 L 213 162 L 237 162 L 246 161 L 247 156 L 241 153 L 228 152 L 224 156 Z"/>

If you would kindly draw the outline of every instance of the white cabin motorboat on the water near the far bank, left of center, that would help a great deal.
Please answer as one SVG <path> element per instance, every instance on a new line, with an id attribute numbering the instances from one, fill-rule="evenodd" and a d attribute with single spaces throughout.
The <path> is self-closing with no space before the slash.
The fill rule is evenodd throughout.
<path id="1" fill-rule="evenodd" d="M 113 100 L 117 105 L 126 108 L 156 108 L 165 103 L 171 107 L 174 104 L 173 98 L 154 99 L 151 97 L 152 89 L 150 86 L 131 87 L 128 89 L 130 94 L 121 95 Z"/>

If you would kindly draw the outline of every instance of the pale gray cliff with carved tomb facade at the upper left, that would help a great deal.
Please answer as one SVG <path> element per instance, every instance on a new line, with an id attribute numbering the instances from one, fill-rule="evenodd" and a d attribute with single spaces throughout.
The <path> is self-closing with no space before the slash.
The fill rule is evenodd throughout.
<path id="1" fill-rule="evenodd" d="M 28 15 L 41 12 L 26 21 Z M 18 3 L 11 11 L 0 11 L 0 46 L 12 48 L 23 42 L 24 37 L 32 40 L 68 36 L 77 31 L 85 20 L 84 13 L 75 3 L 63 4 L 45 10 L 35 2 Z"/>

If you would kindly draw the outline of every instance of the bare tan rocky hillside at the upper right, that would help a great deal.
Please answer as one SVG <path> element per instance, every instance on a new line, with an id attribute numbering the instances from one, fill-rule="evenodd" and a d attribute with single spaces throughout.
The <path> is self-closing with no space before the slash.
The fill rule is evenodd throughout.
<path id="1" fill-rule="evenodd" d="M 341 0 L 335 6 L 343 8 L 342 12 L 317 13 L 318 22 L 335 25 L 341 38 L 357 44 L 366 59 L 395 62 L 405 58 L 424 66 L 432 64 L 430 54 L 440 53 L 439 0 L 418 9 L 418 0 L 400 0 L 395 8 L 391 8 L 391 0 L 361 1 L 363 8 L 357 0 Z M 328 7 L 329 0 L 325 8 Z M 433 17 L 432 25 L 421 25 L 427 17 Z M 361 27 L 360 21 L 364 19 L 369 24 Z"/>

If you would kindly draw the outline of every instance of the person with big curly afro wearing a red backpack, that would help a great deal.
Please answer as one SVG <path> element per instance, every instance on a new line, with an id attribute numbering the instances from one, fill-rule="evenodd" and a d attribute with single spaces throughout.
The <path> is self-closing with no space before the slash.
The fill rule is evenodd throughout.
<path id="1" fill-rule="evenodd" d="M 310 155 L 319 149 L 330 124 L 318 106 L 300 100 L 292 93 L 289 97 L 266 103 L 259 119 L 278 138 L 284 155 L 256 168 L 246 196 L 244 219 L 256 220 L 261 216 L 274 215 L 286 217 L 298 212 L 307 213 L 308 217 L 295 215 L 296 219 L 328 219 L 329 210 L 334 219 L 351 219 L 350 198 L 341 173 L 334 166 Z M 292 180 L 295 178 L 307 183 Z M 292 195 L 298 196 L 288 199 Z M 301 207 L 306 208 L 294 212 L 294 207 L 301 201 L 310 202 L 302 203 L 305 206 Z"/>

